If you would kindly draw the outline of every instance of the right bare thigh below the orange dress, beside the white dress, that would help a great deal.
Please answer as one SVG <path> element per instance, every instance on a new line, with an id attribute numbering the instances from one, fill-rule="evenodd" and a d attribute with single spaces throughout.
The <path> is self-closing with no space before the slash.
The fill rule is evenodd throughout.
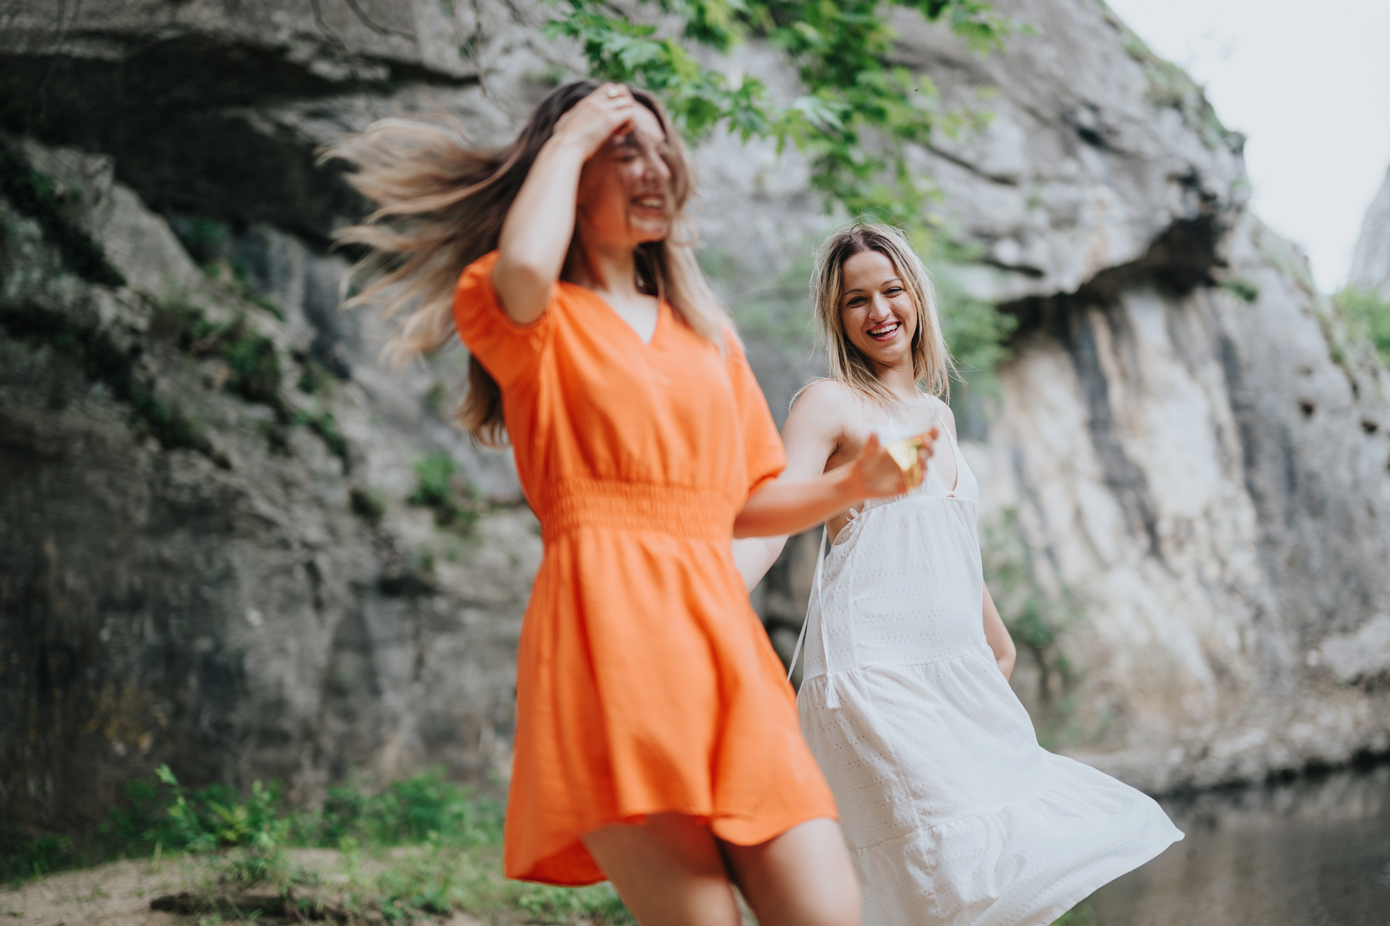
<path id="1" fill-rule="evenodd" d="M 758 845 L 720 843 L 759 926 L 859 926 L 859 880 L 840 825 L 808 820 Z"/>

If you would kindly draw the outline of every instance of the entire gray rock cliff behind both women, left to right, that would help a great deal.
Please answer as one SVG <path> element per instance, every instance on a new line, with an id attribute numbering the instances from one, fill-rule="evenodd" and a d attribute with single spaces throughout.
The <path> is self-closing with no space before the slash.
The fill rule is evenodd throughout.
<path id="1" fill-rule="evenodd" d="M 944 289 L 1019 318 L 960 407 L 991 563 L 1037 617 L 1020 695 L 1155 790 L 1386 749 L 1384 370 L 1245 211 L 1241 139 L 1180 71 L 1091 0 L 999 6 L 1033 25 L 1002 54 L 910 17 L 899 53 L 990 111 L 916 163 L 958 245 Z M 359 204 L 313 157 L 398 108 L 500 138 L 573 60 L 510 3 L 0 22 L 7 819 L 90 820 L 161 761 L 306 799 L 350 769 L 505 772 L 535 523 L 446 421 L 457 356 L 385 370 L 375 323 L 336 311 L 327 245 Z M 795 157 L 699 161 L 780 417 L 831 220 Z M 812 552 L 758 595 L 784 624 Z"/>

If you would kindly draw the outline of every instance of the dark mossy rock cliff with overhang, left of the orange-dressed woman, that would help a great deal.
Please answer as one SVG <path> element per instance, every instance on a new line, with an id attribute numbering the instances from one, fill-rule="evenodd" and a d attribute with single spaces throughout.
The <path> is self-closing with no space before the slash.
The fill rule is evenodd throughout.
<path id="1" fill-rule="evenodd" d="M 164 761 L 304 799 L 505 773 L 539 533 L 443 414 L 459 357 L 385 370 L 338 311 L 328 235 L 360 204 L 313 165 L 396 106 L 506 125 L 463 25 L 0 15 L 0 813 L 82 825 Z"/>

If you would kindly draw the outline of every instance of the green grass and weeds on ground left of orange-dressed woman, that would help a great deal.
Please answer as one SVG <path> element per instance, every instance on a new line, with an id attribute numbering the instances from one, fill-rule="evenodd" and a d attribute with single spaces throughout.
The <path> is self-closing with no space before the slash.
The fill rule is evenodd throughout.
<path id="1" fill-rule="evenodd" d="M 402 925 L 455 912 L 492 923 L 631 923 L 607 884 L 560 888 L 502 877 L 500 801 L 446 781 L 441 772 L 370 794 L 329 790 L 322 806 L 288 808 L 275 786 L 238 795 L 225 786 L 183 788 L 168 766 L 128 788 L 86 854 L 42 837 L 6 845 L 10 882 L 132 856 L 202 858 L 199 883 L 153 898 L 199 922 L 275 916 Z M 309 858 L 306 848 L 335 852 Z M 327 859 L 327 861 L 325 861 Z"/>

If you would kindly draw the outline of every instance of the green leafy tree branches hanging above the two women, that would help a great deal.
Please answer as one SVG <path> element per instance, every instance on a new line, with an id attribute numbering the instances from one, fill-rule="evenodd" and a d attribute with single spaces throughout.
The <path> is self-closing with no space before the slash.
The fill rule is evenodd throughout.
<path id="1" fill-rule="evenodd" d="M 560 0 L 552 36 L 580 42 L 598 78 L 648 88 L 699 139 L 726 125 L 745 142 L 792 143 L 812 164 L 827 206 L 919 225 L 930 186 L 908 167 L 906 146 L 926 142 L 959 114 L 940 107 L 935 88 L 892 61 L 897 33 L 887 7 L 945 22 L 977 51 L 998 47 L 1012 28 L 984 0 Z M 628 14 L 651 15 L 641 22 Z M 691 50 L 728 51 L 748 38 L 780 51 L 803 93 L 771 101 L 756 76 L 730 79 Z"/>

